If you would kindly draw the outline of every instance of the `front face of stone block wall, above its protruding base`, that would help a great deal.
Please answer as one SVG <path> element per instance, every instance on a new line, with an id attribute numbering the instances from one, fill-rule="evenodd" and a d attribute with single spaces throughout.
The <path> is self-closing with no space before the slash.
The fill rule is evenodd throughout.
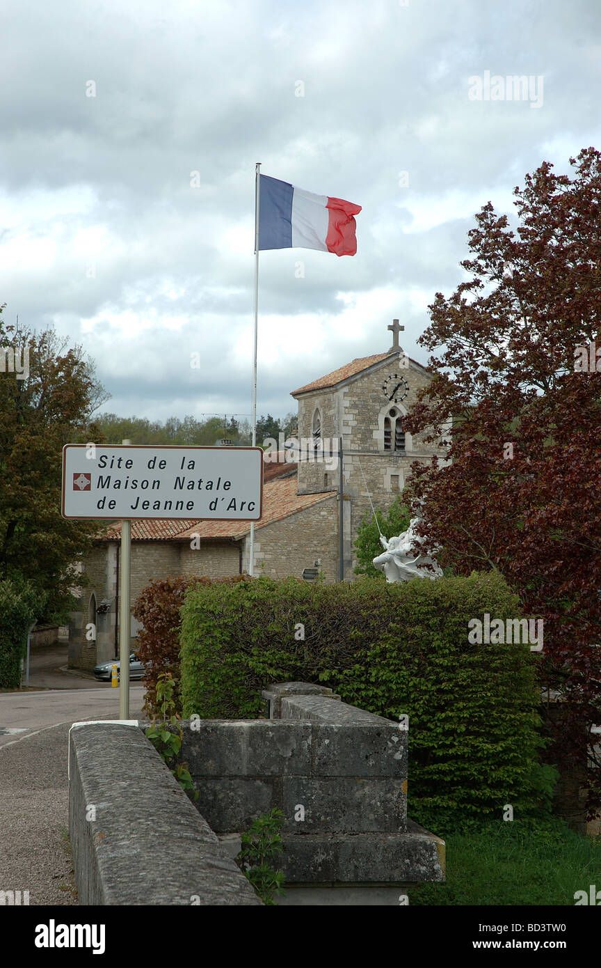
<path id="1" fill-rule="evenodd" d="M 245 830 L 272 807 L 283 811 L 289 833 L 406 829 L 406 750 L 393 724 L 203 719 L 194 726 L 185 725 L 182 757 L 216 833 Z M 394 760 L 397 750 L 402 758 Z"/>

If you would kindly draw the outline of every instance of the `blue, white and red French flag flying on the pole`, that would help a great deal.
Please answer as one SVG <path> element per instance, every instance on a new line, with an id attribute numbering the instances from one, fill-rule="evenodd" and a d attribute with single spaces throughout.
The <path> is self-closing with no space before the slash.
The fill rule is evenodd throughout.
<path id="1" fill-rule="evenodd" d="M 355 256 L 360 205 L 314 195 L 269 175 L 259 175 L 259 250 L 321 249 Z"/>

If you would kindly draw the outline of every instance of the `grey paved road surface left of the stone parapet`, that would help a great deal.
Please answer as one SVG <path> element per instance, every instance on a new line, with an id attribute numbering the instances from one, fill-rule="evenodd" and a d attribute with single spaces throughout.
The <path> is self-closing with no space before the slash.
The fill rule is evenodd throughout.
<path id="1" fill-rule="evenodd" d="M 143 701 L 144 687 L 131 686 L 132 719 L 141 718 Z M 29 891 L 31 905 L 77 903 L 69 728 L 82 719 L 118 718 L 119 689 L 110 685 L 0 693 L 0 891 Z"/>

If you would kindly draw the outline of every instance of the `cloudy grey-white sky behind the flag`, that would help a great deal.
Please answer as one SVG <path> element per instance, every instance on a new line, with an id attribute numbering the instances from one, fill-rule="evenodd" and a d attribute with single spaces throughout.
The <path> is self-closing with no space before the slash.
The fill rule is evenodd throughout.
<path id="1" fill-rule="evenodd" d="M 474 213 L 601 140 L 591 0 L 13 0 L 0 21 L 0 303 L 81 344 L 122 416 L 249 414 L 255 162 L 362 206 L 355 257 L 261 254 L 258 412 L 283 415 L 393 317 L 425 363 Z M 528 97 L 487 100 L 514 75 Z"/>

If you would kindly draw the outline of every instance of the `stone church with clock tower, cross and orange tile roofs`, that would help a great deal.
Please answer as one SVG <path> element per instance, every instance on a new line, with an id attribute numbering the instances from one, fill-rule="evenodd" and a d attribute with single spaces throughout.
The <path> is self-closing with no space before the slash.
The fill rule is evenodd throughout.
<path id="1" fill-rule="evenodd" d="M 327 582 L 351 581 L 358 525 L 371 511 L 370 496 L 375 507 L 386 509 L 403 490 L 412 462 L 429 462 L 437 452 L 404 427 L 408 408 L 431 376 L 400 347 L 398 319 L 387 328 L 392 342 L 386 352 L 355 359 L 292 391 L 299 406 L 296 444 L 257 441 L 267 449 L 255 574 L 307 577 L 319 569 Z M 155 578 L 248 571 L 249 533 L 248 522 L 132 521 L 131 607 Z M 92 584 L 72 613 L 72 666 L 91 668 L 118 653 L 120 539 L 121 523 L 109 525 L 83 563 Z M 135 637 L 137 623 L 131 622 Z M 88 623 L 97 630 L 96 641 L 85 637 Z"/>

